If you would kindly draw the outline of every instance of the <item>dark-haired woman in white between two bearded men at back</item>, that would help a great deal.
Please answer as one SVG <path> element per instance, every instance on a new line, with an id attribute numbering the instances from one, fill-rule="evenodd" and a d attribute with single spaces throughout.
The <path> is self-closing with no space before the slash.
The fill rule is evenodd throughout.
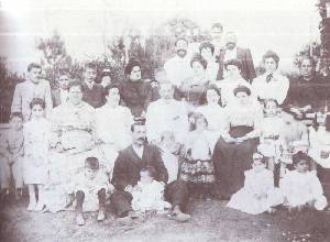
<path id="1" fill-rule="evenodd" d="M 219 64 L 216 63 L 215 45 L 210 42 L 202 42 L 199 45 L 199 53 L 208 63 L 206 68 L 208 79 L 215 81 L 219 70 Z"/>

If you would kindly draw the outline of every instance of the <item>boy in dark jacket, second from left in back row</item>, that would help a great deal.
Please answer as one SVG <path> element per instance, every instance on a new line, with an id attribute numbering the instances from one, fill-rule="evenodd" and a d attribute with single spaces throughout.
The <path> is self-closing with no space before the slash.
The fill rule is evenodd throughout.
<path id="1" fill-rule="evenodd" d="M 57 79 L 57 88 L 52 90 L 53 107 L 57 107 L 65 103 L 68 99 L 67 85 L 69 82 L 69 76 L 67 74 L 59 74 Z"/>

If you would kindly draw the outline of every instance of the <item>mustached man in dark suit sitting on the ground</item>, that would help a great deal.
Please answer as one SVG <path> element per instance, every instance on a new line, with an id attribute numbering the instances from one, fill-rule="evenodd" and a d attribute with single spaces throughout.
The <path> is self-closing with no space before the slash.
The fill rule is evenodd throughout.
<path id="1" fill-rule="evenodd" d="M 132 124 L 131 131 L 132 145 L 119 152 L 111 180 L 116 188 L 111 196 L 111 202 L 116 208 L 117 216 L 121 218 L 122 222 L 131 223 L 134 213 L 132 212 L 130 191 L 140 180 L 141 169 L 152 166 L 156 170 L 155 179 L 165 185 L 165 200 L 173 206 L 173 218 L 177 221 L 189 220 L 190 216 L 182 210 L 188 201 L 187 184 L 179 180 L 166 184 L 167 169 L 158 148 L 146 144 L 144 123 L 135 122 Z"/>

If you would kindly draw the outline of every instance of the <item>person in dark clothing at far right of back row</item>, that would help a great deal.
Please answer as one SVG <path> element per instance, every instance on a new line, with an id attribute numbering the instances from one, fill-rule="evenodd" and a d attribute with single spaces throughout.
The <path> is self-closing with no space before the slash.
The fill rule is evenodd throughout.
<path id="1" fill-rule="evenodd" d="M 323 111 L 327 105 L 327 84 L 316 74 L 311 57 L 304 56 L 299 69 L 300 76 L 290 81 L 284 110 L 304 119 L 308 112 Z"/>

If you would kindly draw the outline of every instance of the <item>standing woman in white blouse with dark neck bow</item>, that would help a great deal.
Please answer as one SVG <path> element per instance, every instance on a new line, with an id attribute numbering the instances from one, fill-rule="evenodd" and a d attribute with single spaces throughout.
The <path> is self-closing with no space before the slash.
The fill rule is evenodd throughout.
<path id="1" fill-rule="evenodd" d="M 275 99 L 280 106 L 289 88 L 289 80 L 278 72 L 278 55 L 268 51 L 263 56 L 266 73 L 256 77 L 252 82 L 253 94 L 260 101 Z"/>

